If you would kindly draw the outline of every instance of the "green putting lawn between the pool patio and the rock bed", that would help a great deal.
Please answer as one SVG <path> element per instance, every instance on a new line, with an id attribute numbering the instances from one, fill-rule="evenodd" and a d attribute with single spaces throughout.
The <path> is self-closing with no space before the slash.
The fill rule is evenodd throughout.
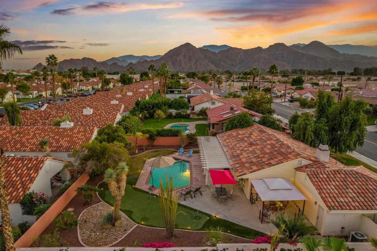
<path id="1" fill-rule="evenodd" d="M 135 181 L 135 177 L 130 177 Z M 128 183 L 132 183 L 127 178 Z M 98 188 L 102 188 L 98 194 L 101 199 L 107 202 L 109 205 L 114 205 L 114 197 L 111 195 L 107 184 L 102 182 L 98 185 Z M 200 195 L 199 195 L 200 196 Z M 152 198 L 152 199 L 150 199 Z M 121 201 L 120 210 L 125 213 L 134 222 L 140 225 L 149 227 L 161 227 L 164 228 L 164 221 L 162 220 L 161 207 L 158 197 L 153 194 L 150 196 L 146 191 L 132 187 L 131 184 L 127 184 L 125 194 Z M 196 209 L 187 207 L 185 205 L 178 204 L 175 227 L 186 230 L 200 230 L 205 231 L 210 227 L 221 227 L 224 233 L 230 233 L 236 236 L 254 239 L 258 236 L 265 236 L 265 233 L 238 225 L 227 220 L 215 218 L 210 214 L 199 211 L 196 213 Z"/>

